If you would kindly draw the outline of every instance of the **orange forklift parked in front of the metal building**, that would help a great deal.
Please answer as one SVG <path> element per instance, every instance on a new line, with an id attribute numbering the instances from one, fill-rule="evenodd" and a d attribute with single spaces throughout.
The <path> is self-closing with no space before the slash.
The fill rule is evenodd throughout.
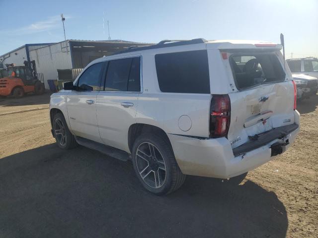
<path id="1" fill-rule="evenodd" d="M 0 96 L 21 98 L 26 93 L 44 93 L 44 83 L 38 79 L 35 60 L 24 61 L 24 66 L 15 66 L 13 63 L 5 66 L 6 69 L 0 69 Z"/>

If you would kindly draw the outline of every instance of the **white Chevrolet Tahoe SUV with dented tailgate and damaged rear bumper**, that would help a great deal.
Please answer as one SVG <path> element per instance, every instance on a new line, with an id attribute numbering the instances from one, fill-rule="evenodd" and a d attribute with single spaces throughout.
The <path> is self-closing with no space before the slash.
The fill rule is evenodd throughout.
<path id="1" fill-rule="evenodd" d="M 194 39 L 94 60 L 51 96 L 52 134 L 63 149 L 80 144 L 132 160 L 156 194 L 176 190 L 185 175 L 240 182 L 299 132 L 296 85 L 280 50 Z"/>

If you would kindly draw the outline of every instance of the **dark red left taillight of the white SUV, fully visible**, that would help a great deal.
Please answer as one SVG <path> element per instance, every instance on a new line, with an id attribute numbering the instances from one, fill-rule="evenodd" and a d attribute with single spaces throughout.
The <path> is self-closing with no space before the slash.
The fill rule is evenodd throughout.
<path id="1" fill-rule="evenodd" d="M 210 107 L 210 137 L 228 135 L 231 102 L 229 95 L 213 95 Z"/>

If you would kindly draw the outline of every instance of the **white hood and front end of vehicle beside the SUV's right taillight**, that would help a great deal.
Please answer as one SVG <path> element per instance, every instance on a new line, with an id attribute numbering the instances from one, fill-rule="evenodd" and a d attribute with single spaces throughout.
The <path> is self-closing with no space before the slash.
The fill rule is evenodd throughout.
<path id="1" fill-rule="evenodd" d="M 317 95 L 318 79 L 305 74 L 292 74 L 297 86 L 297 99 L 302 100 Z"/>

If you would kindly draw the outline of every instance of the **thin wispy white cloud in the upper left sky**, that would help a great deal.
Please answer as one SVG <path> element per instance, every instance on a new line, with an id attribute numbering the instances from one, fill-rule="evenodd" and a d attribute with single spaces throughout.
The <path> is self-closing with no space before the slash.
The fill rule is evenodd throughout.
<path id="1" fill-rule="evenodd" d="M 65 18 L 71 18 L 65 17 Z M 7 30 L 0 32 L 1 34 L 12 35 L 12 36 L 19 36 L 19 35 L 26 35 L 26 34 L 34 34 L 43 31 L 49 31 L 54 28 L 61 27 L 61 16 L 50 16 L 46 20 L 37 21 L 31 23 L 30 25 L 23 26 L 14 30 Z"/>

